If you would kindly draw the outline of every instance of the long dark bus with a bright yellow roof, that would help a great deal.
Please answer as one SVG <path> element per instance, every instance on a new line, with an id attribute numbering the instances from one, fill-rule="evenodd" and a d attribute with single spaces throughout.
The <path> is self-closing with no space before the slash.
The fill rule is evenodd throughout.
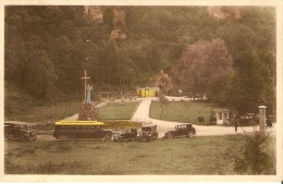
<path id="1" fill-rule="evenodd" d="M 82 139 L 111 140 L 112 131 L 102 130 L 104 123 L 97 121 L 58 121 L 54 124 L 53 137 L 70 142 Z"/>

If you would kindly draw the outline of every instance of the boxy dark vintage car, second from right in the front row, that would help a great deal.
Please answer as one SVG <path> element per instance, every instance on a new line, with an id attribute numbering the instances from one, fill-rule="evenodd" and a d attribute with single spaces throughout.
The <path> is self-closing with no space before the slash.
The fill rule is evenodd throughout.
<path id="1" fill-rule="evenodd" d="M 137 140 L 153 140 L 158 138 L 157 125 L 142 126 L 142 131 L 137 134 Z"/>

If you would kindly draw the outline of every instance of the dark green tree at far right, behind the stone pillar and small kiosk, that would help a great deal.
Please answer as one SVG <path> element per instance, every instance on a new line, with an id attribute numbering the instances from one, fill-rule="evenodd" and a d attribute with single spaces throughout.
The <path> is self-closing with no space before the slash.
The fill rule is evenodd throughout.
<path id="1" fill-rule="evenodd" d="M 237 111 L 239 114 L 257 112 L 257 107 L 266 105 L 269 112 L 274 112 L 275 97 L 271 72 L 257 54 L 238 53 L 238 64 L 235 75 L 226 77 L 223 83 L 213 87 L 211 101 Z M 245 102 L 243 102 L 245 101 Z"/>

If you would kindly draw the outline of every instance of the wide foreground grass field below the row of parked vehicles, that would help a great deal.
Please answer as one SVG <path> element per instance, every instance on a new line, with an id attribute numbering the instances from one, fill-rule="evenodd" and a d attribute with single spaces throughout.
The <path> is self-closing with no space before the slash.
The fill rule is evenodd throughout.
<path id="1" fill-rule="evenodd" d="M 45 135 L 47 136 L 47 135 Z M 148 142 L 5 142 L 5 174 L 236 174 L 243 135 Z M 275 174 L 275 173 L 271 173 Z"/>

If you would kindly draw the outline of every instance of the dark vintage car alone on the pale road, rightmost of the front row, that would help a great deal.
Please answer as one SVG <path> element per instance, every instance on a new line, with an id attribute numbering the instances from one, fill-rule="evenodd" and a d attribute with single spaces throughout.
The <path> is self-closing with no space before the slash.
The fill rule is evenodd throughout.
<path id="1" fill-rule="evenodd" d="M 179 124 L 174 131 L 168 131 L 163 138 L 174 137 L 194 137 L 196 135 L 196 128 L 190 123 Z"/>

